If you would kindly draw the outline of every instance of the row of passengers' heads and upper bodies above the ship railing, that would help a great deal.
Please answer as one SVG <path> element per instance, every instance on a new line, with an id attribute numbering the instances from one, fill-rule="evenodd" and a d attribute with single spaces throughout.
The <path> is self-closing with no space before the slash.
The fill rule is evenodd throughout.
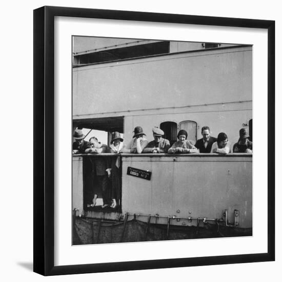
<path id="1" fill-rule="evenodd" d="M 164 131 L 154 127 L 154 140 L 148 142 L 146 134 L 142 127 L 137 126 L 134 129 L 134 135 L 127 145 L 124 145 L 123 138 L 120 137 L 119 132 L 112 133 L 111 145 L 108 150 L 107 145 L 98 143 L 96 137 L 90 138 L 90 142 L 84 141 L 81 130 L 75 130 L 73 143 L 73 153 L 231 153 L 231 144 L 228 141 L 226 133 L 220 132 L 217 138 L 210 136 L 210 128 L 208 126 L 202 127 L 203 138 L 198 139 L 193 145 L 191 141 L 187 140 L 188 133 L 186 130 L 179 130 L 177 134 L 177 141 L 170 146 L 169 140 L 163 138 Z M 252 153 L 252 142 L 249 140 L 249 135 L 245 128 L 239 130 L 238 142 L 233 146 L 233 153 Z M 91 139 L 96 140 L 95 146 L 91 145 Z M 92 141 L 93 143 L 93 141 Z M 104 149 L 103 149 L 104 148 Z"/>

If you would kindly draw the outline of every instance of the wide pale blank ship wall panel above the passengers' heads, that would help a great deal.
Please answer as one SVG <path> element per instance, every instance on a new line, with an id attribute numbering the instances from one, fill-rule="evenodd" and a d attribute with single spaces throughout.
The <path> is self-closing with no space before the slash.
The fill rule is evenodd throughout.
<path id="1" fill-rule="evenodd" d="M 74 118 L 252 100 L 251 47 L 131 59 L 73 72 Z"/>

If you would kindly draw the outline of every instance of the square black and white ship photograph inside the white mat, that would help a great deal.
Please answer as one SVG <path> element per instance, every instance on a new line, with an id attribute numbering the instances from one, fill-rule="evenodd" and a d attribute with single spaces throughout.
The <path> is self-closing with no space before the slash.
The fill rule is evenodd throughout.
<path id="1" fill-rule="evenodd" d="M 72 37 L 73 245 L 252 236 L 252 57 Z"/>

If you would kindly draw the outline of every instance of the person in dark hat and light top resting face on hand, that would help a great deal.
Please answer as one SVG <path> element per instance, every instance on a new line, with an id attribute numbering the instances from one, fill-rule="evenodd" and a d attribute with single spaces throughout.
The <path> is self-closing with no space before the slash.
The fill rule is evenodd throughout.
<path id="1" fill-rule="evenodd" d="M 134 128 L 134 135 L 128 145 L 123 149 L 123 153 L 140 154 L 148 145 L 148 140 L 145 137 L 142 127 L 136 126 Z"/>

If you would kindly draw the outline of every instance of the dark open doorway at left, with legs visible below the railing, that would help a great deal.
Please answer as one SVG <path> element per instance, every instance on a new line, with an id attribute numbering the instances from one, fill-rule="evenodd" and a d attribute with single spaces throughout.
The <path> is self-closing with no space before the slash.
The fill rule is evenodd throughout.
<path id="1" fill-rule="evenodd" d="M 76 119 L 73 120 L 73 131 L 75 129 L 82 130 L 86 142 L 96 138 L 98 146 L 103 147 L 103 153 L 82 156 L 84 209 L 118 212 L 122 204 L 122 162 L 119 156 L 110 154 L 108 148 L 112 132 L 118 131 L 123 137 L 124 117 Z"/>

